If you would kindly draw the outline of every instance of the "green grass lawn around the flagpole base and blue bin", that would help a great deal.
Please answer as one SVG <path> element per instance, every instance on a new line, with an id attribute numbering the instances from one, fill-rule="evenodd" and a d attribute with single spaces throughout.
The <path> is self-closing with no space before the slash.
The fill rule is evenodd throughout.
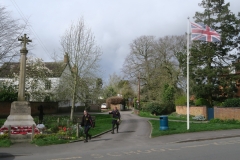
<path id="1" fill-rule="evenodd" d="M 228 130 L 228 129 L 240 129 L 240 122 L 210 122 L 210 123 L 190 123 L 190 128 L 187 130 L 186 122 L 173 122 L 168 121 L 168 130 L 160 130 L 159 120 L 149 120 L 152 124 L 152 137 L 158 137 L 170 134 L 189 133 L 189 132 L 201 132 L 201 131 L 215 131 L 215 130 Z"/>

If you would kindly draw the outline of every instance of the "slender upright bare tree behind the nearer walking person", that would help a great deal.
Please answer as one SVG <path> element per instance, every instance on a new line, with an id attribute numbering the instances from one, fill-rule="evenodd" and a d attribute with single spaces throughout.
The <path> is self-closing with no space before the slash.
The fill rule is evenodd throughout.
<path id="1" fill-rule="evenodd" d="M 63 53 L 68 57 L 70 72 L 64 76 L 72 97 L 72 120 L 75 102 L 83 99 L 87 101 L 91 87 L 96 82 L 101 50 L 96 45 L 93 33 L 84 24 L 83 18 L 75 24 L 72 23 L 66 30 L 61 38 L 61 46 Z"/>

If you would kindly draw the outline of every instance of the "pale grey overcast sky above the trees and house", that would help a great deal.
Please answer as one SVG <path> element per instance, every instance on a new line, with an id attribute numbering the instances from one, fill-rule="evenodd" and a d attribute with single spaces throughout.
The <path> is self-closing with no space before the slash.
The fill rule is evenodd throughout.
<path id="1" fill-rule="evenodd" d="M 53 52 L 61 52 L 60 38 L 72 22 L 81 17 L 91 28 L 102 49 L 102 78 L 121 74 L 129 44 L 142 35 L 163 37 L 187 31 L 187 17 L 202 0 L 0 0 L 13 18 L 28 19 L 34 42 L 31 52 L 44 61 L 53 61 Z M 230 2 L 230 10 L 240 11 L 240 0 Z"/>

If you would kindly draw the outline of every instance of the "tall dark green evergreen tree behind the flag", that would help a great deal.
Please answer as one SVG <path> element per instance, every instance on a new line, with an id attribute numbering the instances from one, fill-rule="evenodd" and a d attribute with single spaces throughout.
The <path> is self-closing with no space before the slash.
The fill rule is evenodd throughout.
<path id="1" fill-rule="evenodd" d="M 229 75 L 231 62 L 237 57 L 233 51 L 239 49 L 240 14 L 238 17 L 233 14 L 229 10 L 230 3 L 225 4 L 224 0 L 202 0 L 200 6 L 205 9 L 203 13 L 196 12 L 195 22 L 217 31 L 221 35 L 221 41 L 192 43 L 190 77 L 195 82 L 194 94 L 207 99 L 212 105 L 222 89 L 228 88 L 228 93 L 225 93 L 227 95 L 233 91 L 229 87 L 229 82 L 233 79 L 225 78 L 224 75 Z"/>

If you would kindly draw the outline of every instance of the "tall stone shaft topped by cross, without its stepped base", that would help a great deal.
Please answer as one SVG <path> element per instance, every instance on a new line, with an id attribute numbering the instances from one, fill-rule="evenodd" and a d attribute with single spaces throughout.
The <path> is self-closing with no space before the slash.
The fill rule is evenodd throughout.
<path id="1" fill-rule="evenodd" d="M 19 88 L 18 88 L 18 101 L 25 101 L 25 77 L 26 77 L 26 55 L 28 50 L 26 45 L 28 42 L 32 42 L 29 40 L 26 34 L 24 37 L 18 39 L 23 44 L 22 49 L 20 50 L 21 59 L 20 59 L 20 73 L 19 73 Z"/>

